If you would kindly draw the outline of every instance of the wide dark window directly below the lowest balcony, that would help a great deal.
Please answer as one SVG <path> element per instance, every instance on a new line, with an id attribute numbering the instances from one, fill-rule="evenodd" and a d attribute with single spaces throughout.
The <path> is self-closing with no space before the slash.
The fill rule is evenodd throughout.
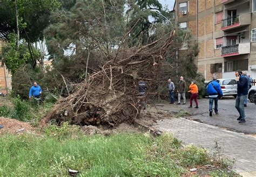
<path id="1" fill-rule="evenodd" d="M 234 72 L 235 70 L 248 70 L 248 59 L 224 62 L 225 72 Z"/>

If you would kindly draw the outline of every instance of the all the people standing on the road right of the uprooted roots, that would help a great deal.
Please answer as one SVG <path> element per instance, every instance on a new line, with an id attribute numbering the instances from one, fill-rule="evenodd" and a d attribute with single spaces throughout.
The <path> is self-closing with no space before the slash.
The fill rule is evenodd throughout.
<path id="1" fill-rule="evenodd" d="M 235 72 L 235 80 L 237 81 L 237 97 L 235 99 L 235 108 L 239 112 L 239 117 L 237 118 L 237 121 L 239 123 L 245 123 L 245 108 L 247 107 L 247 94 L 248 90 L 252 87 L 252 77 L 250 75 L 247 75 L 246 72 L 242 72 L 240 70 Z M 171 79 L 168 80 L 168 88 L 169 88 L 169 95 L 170 95 L 170 104 L 175 104 L 174 102 L 174 90 L 175 86 L 174 83 L 171 81 Z M 192 102 L 196 102 L 196 107 L 198 107 L 198 87 L 197 84 L 192 81 L 190 86 L 190 90 L 187 91 L 188 93 L 191 93 L 190 97 L 190 107 L 192 108 Z M 184 80 L 183 76 L 180 76 L 180 81 L 178 82 L 178 103 L 180 104 L 180 98 L 183 96 L 183 104 L 186 104 L 186 82 Z M 218 97 L 223 96 L 223 92 L 221 90 L 220 84 L 217 81 L 217 76 L 213 75 L 212 81 L 210 81 L 207 85 L 207 93 L 209 97 L 209 115 L 212 116 L 213 114 L 213 103 L 214 103 L 214 112 L 216 115 L 219 114 L 218 112 Z"/>

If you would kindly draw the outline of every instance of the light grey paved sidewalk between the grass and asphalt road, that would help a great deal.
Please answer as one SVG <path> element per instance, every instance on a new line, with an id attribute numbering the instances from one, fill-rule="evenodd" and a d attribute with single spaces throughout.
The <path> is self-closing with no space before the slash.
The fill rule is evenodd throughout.
<path id="1" fill-rule="evenodd" d="M 256 138 L 185 118 L 163 119 L 154 128 L 173 133 L 183 144 L 201 145 L 214 152 L 215 141 L 227 157 L 235 158 L 235 171 L 256 176 Z"/>

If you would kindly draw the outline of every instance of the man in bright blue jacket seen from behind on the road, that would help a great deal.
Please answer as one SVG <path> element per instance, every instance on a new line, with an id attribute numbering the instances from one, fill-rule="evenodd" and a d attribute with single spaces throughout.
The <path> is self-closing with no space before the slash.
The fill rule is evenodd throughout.
<path id="1" fill-rule="evenodd" d="M 212 105 L 214 101 L 214 112 L 215 114 L 219 114 L 218 112 L 218 96 L 223 96 L 222 90 L 220 88 L 220 84 L 217 82 L 216 75 L 212 76 L 212 81 L 208 83 L 207 93 L 209 95 L 209 111 L 210 116 L 212 116 Z"/>

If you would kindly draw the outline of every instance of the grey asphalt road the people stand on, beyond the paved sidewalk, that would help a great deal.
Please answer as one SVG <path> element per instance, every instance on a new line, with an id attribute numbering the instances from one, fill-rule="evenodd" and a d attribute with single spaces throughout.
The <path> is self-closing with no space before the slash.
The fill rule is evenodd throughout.
<path id="1" fill-rule="evenodd" d="M 189 100 L 187 100 L 185 105 L 165 103 L 157 104 L 157 108 L 175 113 L 179 111 L 187 111 L 190 112 L 191 116 L 183 116 L 185 118 L 190 118 L 198 122 L 203 121 L 205 124 L 218 126 L 227 130 L 245 134 L 256 134 L 256 105 L 254 105 L 254 103 L 248 102 L 247 107 L 245 107 L 246 123 L 239 124 L 237 121 L 239 114 L 237 109 L 235 109 L 235 99 L 233 97 L 225 97 L 223 100 L 219 100 L 219 115 L 215 115 L 213 112 L 212 117 L 209 116 L 208 99 L 204 98 L 198 101 L 199 109 L 194 108 L 194 102 L 193 108 L 188 108 L 190 105 Z"/>

